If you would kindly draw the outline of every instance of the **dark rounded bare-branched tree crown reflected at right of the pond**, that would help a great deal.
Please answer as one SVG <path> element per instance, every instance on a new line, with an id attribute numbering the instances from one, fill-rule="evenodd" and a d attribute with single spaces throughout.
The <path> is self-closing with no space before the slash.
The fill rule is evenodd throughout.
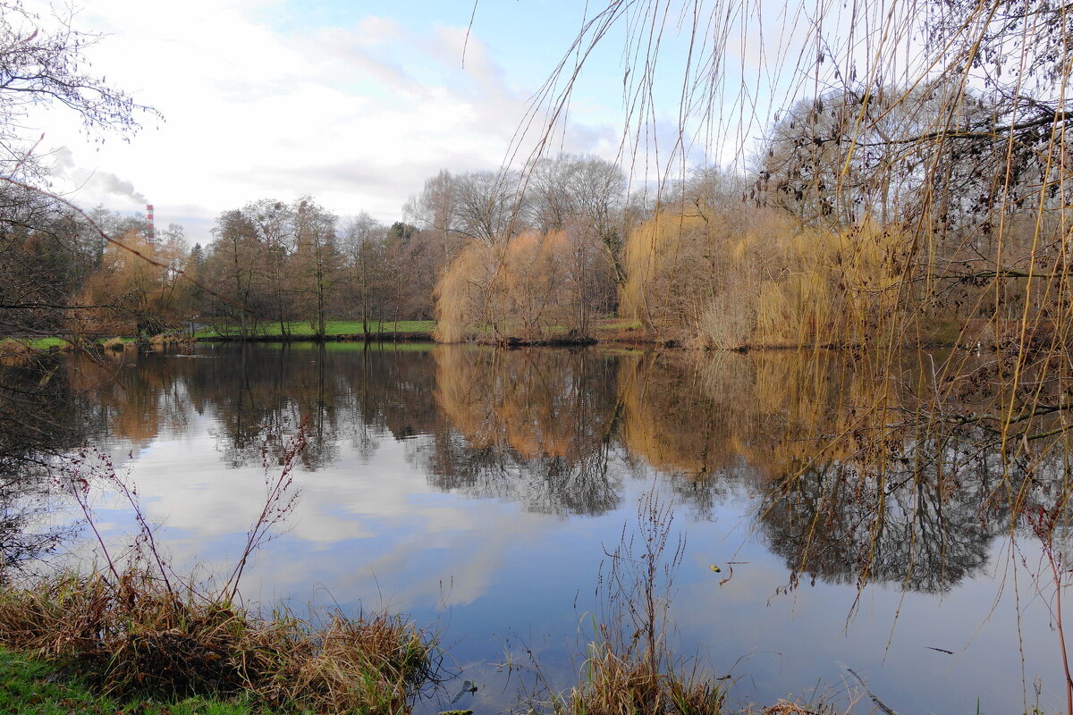
<path id="1" fill-rule="evenodd" d="M 982 511 L 988 467 L 961 463 L 954 448 L 924 449 L 951 471 L 923 459 L 882 474 L 828 462 L 807 467 L 763 502 L 759 525 L 785 560 L 791 584 L 806 575 L 813 582 L 879 581 L 942 593 L 982 570 L 991 540 L 1009 523 L 1004 513 Z M 983 479 L 967 478 L 981 471 Z M 954 473 L 961 473 L 957 488 L 950 483 Z"/>

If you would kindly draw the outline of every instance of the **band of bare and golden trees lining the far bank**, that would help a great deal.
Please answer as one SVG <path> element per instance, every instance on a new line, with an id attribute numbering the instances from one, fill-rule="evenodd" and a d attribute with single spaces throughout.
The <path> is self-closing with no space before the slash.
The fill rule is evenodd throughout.
<path id="1" fill-rule="evenodd" d="M 329 318 L 435 317 L 453 342 L 585 338 L 617 315 L 649 338 L 720 348 L 1001 344 L 1002 319 L 1027 310 L 1046 330 L 1062 310 L 1069 190 L 1049 182 L 1049 135 L 1011 125 L 1000 98 L 966 101 L 957 136 L 937 140 L 950 91 L 862 86 L 799 102 L 747 174 L 696 168 L 630 192 L 593 157 L 443 170 L 389 226 L 266 198 L 222 212 L 207 245 L 8 185 L 3 328 L 246 334 L 308 322 L 323 334 Z M 995 139 L 1011 132 L 1015 143 Z M 972 321 L 995 317 L 986 334 Z"/>

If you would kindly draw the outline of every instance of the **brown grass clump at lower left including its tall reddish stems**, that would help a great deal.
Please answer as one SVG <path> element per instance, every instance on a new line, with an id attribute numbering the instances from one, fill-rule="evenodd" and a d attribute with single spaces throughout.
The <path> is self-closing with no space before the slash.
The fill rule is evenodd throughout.
<path id="1" fill-rule="evenodd" d="M 293 507 L 291 471 L 305 446 L 303 422 L 280 468 L 265 464 L 262 512 L 231 576 L 210 582 L 172 569 L 136 490 L 109 457 L 86 448 L 71 458 L 58 485 L 98 537 L 104 565 L 4 581 L 0 646 L 55 664 L 94 694 L 123 701 L 237 698 L 259 711 L 406 715 L 422 689 L 439 681 L 435 635 L 397 615 L 336 610 L 303 617 L 286 608 L 247 608 L 238 596 L 250 554 Z M 117 490 L 134 509 L 139 532 L 122 560 L 100 538 L 87 501 L 90 480 Z"/>

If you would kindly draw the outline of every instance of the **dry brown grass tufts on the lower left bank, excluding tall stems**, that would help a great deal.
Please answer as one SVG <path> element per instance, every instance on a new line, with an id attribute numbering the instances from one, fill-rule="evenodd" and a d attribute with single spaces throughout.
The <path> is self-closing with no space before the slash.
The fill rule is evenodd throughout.
<path id="1" fill-rule="evenodd" d="M 262 616 L 127 571 L 0 593 L 0 642 L 63 664 L 106 695 L 248 692 L 264 705 L 401 713 L 435 680 L 433 639 L 400 617 Z"/>

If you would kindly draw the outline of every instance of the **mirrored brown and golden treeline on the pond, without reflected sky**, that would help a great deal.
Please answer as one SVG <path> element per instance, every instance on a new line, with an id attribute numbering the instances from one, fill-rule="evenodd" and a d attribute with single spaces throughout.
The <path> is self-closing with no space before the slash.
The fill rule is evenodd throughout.
<path id="1" fill-rule="evenodd" d="M 744 492 L 758 497 L 755 528 L 791 585 L 805 575 L 943 592 L 976 574 L 1010 528 L 1009 501 L 995 498 L 1010 486 L 1003 465 L 970 431 L 891 429 L 891 459 L 862 458 L 861 430 L 874 426 L 858 407 L 893 409 L 908 388 L 829 353 L 245 345 L 71 357 L 2 375 L 4 389 L 40 388 L 26 398 L 34 421 L 4 434 L 9 476 L 85 438 L 141 449 L 197 420 L 211 424 L 225 464 L 259 465 L 305 420 L 307 471 L 346 445 L 372 459 L 393 438 L 435 489 L 534 513 L 616 509 L 623 480 L 646 467 L 702 517 Z M 1033 494 L 1064 474 L 1058 457 L 1038 460 L 1019 498 L 1044 498 Z M 18 532 L 19 512 L 8 513 L 5 533 Z"/>

